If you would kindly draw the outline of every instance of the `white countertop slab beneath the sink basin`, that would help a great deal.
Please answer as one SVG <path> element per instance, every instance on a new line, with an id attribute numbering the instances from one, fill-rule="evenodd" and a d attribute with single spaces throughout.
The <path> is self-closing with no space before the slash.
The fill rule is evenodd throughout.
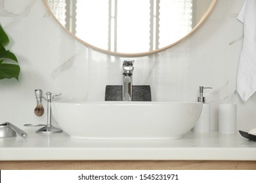
<path id="1" fill-rule="evenodd" d="M 0 160 L 253 160 L 256 142 L 239 133 L 194 133 L 168 141 L 77 140 L 66 133 L 0 138 Z"/>

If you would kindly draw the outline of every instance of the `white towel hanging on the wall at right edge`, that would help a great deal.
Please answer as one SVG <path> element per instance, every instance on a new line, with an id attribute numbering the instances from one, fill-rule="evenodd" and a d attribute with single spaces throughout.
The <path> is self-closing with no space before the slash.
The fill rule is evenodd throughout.
<path id="1" fill-rule="evenodd" d="M 245 0 L 238 14 L 244 23 L 244 41 L 238 65 L 237 90 L 243 101 L 256 91 L 256 1 Z"/>

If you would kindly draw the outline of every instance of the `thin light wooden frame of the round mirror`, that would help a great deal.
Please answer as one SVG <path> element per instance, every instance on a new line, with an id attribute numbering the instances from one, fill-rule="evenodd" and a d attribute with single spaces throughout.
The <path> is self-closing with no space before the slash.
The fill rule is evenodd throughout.
<path id="1" fill-rule="evenodd" d="M 156 50 L 152 50 L 150 52 L 141 52 L 141 53 L 120 53 L 120 52 L 112 52 L 109 50 L 104 50 L 102 48 L 98 48 L 96 46 L 93 46 L 92 44 L 89 44 L 88 42 L 85 42 L 81 39 L 79 39 L 78 37 L 76 37 L 74 34 L 70 33 L 70 31 L 68 31 L 68 29 L 66 29 L 66 27 L 64 27 L 62 24 L 60 24 L 60 22 L 57 20 L 57 18 L 54 16 L 51 8 L 49 7 L 48 3 L 43 0 L 43 3 L 45 4 L 45 6 L 47 7 L 47 9 L 49 10 L 49 12 L 51 12 L 51 15 L 53 16 L 54 20 L 56 20 L 58 22 L 58 24 L 68 33 L 70 34 L 72 37 L 74 37 L 75 39 L 77 39 L 77 41 L 81 42 L 82 44 L 84 44 L 85 46 L 88 46 L 89 48 L 92 48 L 93 50 L 96 50 L 98 52 L 102 52 L 104 54 L 110 54 L 112 56 L 120 56 L 120 57 L 142 57 L 142 56 L 148 56 L 150 54 L 156 54 L 158 52 L 161 52 L 163 50 L 167 50 L 168 48 L 171 48 L 172 46 L 174 46 L 175 44 L 178 44 L 179 42 L 183 41 L 184 39 L 186 39 L 187 37 L 189 37 L 192 33 L 194 33 L 194 31 L 196 31 L 202 24 L 203 22 L 205 22 L 205 20 L 209 17 L 209 15 L 211 14 L 213 8 L 215 7 L 217 0 L 212 0 L 211 4 L 209 5 L 209 8 L 205 11 L 205 13 L 203 14 L 201 20 L 198 22 L 198 24 L 190 31 L 188 32 L 184 37 L 182 37 L 181 39 L 179 39 L 176 42 L 173 42 L 172 44 L 169 44 L 168 46 L 165 46 L 163 48 L 158 48 Z"/>

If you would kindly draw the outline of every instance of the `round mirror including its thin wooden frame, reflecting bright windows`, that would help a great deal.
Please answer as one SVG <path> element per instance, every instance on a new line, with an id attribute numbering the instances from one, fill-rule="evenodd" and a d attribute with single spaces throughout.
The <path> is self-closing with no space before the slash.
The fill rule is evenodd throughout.
<path id="1" fill-rule="evenodd" d="M 217 0 L 43 0 L 75 39 L 100 52 L 144 56 L 188 37 Z"/>

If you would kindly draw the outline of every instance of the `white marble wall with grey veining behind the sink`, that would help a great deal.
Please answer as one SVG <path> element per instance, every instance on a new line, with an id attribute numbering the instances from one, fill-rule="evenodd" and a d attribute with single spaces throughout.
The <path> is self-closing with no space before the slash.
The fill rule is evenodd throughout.
<path id="1" fill-rule="evenodd" d="M 236 95 L 242 24 L 236 16 L 244 0 L 219 0 L 208 20 L 188 39 L 159 54 L 134 58 L 134 84 L 150 84 L 154 101 L 196 101 L 199 86 L 211 103 L 238 104 L 238 129 L 256 127 L 256 95 L 246 103 Z M 123 58 L 102 54 L 68 35 L 41 0 L 0 0 L 0 23 L 20 62 L 20 80 L 0 80 L 0 122 L 22 127 L 46 123 L 33 114 L 33 90 L 62 93 L 62 100 L 103 101 L 106 84 L 121 84 Z"/>

